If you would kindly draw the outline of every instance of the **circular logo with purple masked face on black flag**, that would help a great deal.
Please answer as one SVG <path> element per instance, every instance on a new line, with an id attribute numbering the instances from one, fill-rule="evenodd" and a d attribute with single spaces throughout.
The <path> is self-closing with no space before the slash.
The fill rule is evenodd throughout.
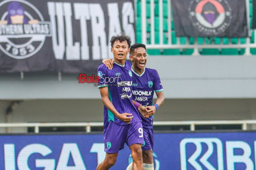
<path id="1" fill-rule="evenodd" d="M 193 26 L 207 35 L 225 31 L 232 19 L 226 0 L 192 0 L 188 12 Z"/>

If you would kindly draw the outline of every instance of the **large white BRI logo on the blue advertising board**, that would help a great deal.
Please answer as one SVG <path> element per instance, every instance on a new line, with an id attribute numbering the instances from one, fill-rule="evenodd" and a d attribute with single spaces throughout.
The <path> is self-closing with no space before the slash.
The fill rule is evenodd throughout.
<path id="1" fill-rule="evenodd" d="M 222 142 L 218 138 L 185 138 L 180 142 L 181 170 L 253 170 L 253 148 L 255 150 L 256 141 L 248 144 L 239 140 Z"/>

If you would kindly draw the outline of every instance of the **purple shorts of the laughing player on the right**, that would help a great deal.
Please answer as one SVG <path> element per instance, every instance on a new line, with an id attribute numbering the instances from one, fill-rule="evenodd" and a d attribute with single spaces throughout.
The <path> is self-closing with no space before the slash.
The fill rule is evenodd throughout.
<path id="1" fill-rule="evenodd" d="M 147 151 L 154 147 L 154 131 L 153 128 L 143 128 L 144 144 L 142 144 L 142 151 Z"/>

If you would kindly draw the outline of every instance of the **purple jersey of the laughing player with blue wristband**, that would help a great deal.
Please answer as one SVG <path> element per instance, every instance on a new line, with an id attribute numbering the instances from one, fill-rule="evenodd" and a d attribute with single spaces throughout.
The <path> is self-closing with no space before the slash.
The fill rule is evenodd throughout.
<path id="1" fill-rule="evenodd" d="M 154 91 L 156 93 L 163 91 L 157 70 L 145 68 L 142 74 L 139 75 L 132 69 L 132 76 L 132 99 L 145 107 L 152 106 Z M 153 116 L 149 118 L 141 117 L 143 127 L 153 128 Z"/>

